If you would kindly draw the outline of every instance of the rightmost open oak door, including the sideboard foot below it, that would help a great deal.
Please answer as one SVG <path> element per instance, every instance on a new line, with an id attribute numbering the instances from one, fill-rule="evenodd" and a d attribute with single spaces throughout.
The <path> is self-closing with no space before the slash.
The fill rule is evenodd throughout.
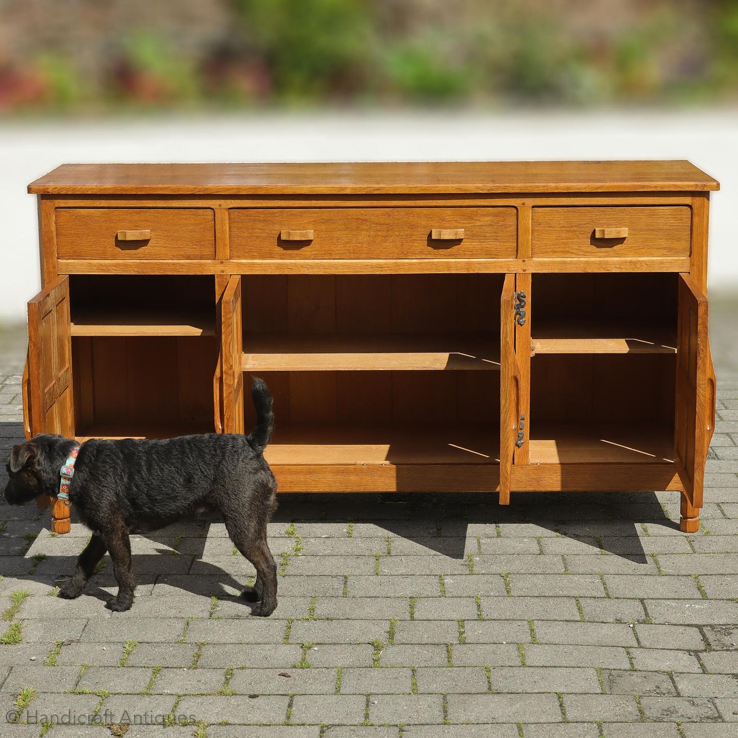
<path id="1" fill-rule="evenodd" d="M 715 427 L 715 371 L 710 356 L 707 297 L 688 274 L 680 275 L 677 321 L 677 397 L 674 461 L 684 487 L 680 528 L 700 527 L 703 481 Z"/>

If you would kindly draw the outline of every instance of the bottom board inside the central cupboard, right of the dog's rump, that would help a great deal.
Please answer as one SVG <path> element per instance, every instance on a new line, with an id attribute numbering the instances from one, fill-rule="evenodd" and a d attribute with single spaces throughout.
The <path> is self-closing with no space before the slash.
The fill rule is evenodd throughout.
<path id="1" fill-rule="evenodd" d="M 500 432 L 489 425 L 295 424 L 277 430 L 264 457 L 273 466 L 500 463 Z"/>

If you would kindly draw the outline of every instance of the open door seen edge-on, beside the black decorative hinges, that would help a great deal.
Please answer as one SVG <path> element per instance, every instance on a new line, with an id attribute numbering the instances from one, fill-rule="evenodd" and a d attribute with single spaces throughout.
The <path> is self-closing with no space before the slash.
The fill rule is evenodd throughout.
<path id="1" fill-rule="evenodd" d="M 510 504 L 515 443 L 520 428 L 520 370 L 515 356 L 515 275 L 500 300 L 500 505 Z"/>

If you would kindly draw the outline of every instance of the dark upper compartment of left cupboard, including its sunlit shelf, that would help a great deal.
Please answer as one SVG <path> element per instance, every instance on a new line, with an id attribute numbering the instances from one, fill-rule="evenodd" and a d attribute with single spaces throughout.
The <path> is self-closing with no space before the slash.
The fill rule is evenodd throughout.
<path id="1" fill-rule="evenodd" d="M 72 336 L 213 336 L 207 275 L 70 275 Z"/>

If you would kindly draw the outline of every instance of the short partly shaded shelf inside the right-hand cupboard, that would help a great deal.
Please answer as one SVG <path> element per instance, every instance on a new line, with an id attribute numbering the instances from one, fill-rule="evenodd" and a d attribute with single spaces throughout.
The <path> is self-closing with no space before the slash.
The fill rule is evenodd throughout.
<path id="1" fill-rule="evenodd" d="M 676 330 L 622 324 L 531 324 L 534 354 L 676 354 Z"/>

